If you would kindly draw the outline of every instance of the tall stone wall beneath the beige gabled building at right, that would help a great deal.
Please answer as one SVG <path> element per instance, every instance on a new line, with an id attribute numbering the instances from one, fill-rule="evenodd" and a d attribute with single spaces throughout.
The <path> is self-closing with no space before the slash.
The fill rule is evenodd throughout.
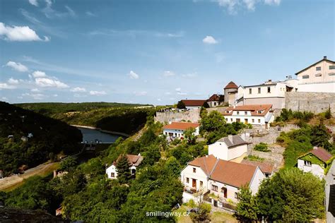
<path id="1" fill-rule="evenodd" d="M 335 115 L 335 90 L 334 93 L 286 92 L 285 97 L 286 109 L 321 113 L 330 107 L 331 113 Z"/>

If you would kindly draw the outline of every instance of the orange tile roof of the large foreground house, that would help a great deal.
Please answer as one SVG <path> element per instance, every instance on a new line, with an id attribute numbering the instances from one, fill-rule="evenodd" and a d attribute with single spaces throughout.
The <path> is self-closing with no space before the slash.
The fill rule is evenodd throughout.
<path id="1" fill-rule="evenodd" d="M 216 159 L 213 155 L 199 157 L 189 162 L 189 165 L 200 167 L 213 181 L 226 183 L 240 188 L 251 183 L 257 167 L 237 162 Z"/>

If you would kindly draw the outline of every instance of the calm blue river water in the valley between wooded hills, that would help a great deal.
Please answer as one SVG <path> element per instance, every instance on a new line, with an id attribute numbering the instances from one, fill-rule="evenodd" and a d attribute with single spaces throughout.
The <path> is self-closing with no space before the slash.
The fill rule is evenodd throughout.
<path id="1" fill-rule="evenodd" d="M 83 141 L 95 142 L 98 140 L 100 143 L 114 143 L 117 138 L 119 138 L 119 135 L 112 135 L 108 133 L 102 133 L 95 129 L 90 128 L 79 128 L 77 127 L 81 133 L 83 133 Z"/>

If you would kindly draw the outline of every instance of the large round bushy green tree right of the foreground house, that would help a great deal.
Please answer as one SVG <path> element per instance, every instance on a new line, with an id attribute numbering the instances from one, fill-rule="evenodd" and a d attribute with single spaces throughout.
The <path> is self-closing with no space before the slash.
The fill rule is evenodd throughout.
<path id="1" fill-rule="evenodd" d="M 282 169 L 261 183 L 259 217 L 269 222 L 310 222 L 324 217 L 324 183 L 298 168 Z"/>

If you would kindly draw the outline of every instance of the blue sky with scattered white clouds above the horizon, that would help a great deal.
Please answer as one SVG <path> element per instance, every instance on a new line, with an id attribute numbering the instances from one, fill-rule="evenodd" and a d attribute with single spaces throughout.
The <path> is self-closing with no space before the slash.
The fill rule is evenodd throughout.
<path id="1" fill-rule="evenodd" d="M 334 58 L 334 1 L 0 0 L 0 100 L 173 104 Z"/>

